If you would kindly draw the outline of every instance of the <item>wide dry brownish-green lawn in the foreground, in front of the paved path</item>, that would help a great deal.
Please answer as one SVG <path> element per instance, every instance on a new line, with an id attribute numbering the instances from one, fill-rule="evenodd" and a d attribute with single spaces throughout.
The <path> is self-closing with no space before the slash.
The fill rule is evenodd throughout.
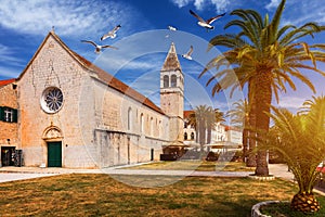
<path id="1" fill-rule="evenodd" d="M 168 178 L 153 176 L 151 181 Z M 136 176 L 132 179 L 142 181 Z M 253 204 L 289 201 L 296 191 L 294 183 L 280 179 L 186 177 L 167 187 L 145 189 L 126 186 L 108 175 L 72 174 L 0 183 L 0 216 L 248 217 Z"/>

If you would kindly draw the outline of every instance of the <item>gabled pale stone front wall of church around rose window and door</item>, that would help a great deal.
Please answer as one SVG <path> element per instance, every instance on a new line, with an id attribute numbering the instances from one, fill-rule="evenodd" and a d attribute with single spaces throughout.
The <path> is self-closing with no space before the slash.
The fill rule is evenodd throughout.
<path id="1" fill-rule="evenodd" d="M 21 110 L 20 146 L 26 166 L 47 164 L 47 141 L 62 141 L 63 167 L 93 168 L 96 165 L 88 154 L 82 137 L 82 124 L 93 129 L 93 111 L 80 113 L 80 105 L 92 103 L 81 94 L 91 88 L 88 72 L 51 35 L 36 53 L 31 63 L 17 81 Z M 60 88 L 63 106 L 54 114 L 41 107 L 40 100 L 48 87 Z M 48 128 L 60 129 L 61 138 L 44 138 Z M 91 130 L 90 130 L 90 133 Z"/>

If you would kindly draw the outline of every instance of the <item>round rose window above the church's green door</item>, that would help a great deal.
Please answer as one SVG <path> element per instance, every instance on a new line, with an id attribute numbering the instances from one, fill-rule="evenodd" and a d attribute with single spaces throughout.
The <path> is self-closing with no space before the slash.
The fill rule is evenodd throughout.
<path id="1" fill-rule="evenodd" d="M 63 104 L 63 93 L 58 88 L 47 88 L 41 97 L 41 107 L 47 113 L 57 112 Z"/>

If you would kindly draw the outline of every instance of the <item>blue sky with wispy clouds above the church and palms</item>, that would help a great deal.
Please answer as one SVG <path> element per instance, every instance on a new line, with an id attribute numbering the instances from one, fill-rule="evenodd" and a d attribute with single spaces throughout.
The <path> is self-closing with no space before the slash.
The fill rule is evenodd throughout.
<path id="1" fill-rule="evenodd" d="M 229 99 L 226 94 L 211 98 L 210 87 L 205 87 L 209 77 L 197 79 L 204 65 L 221 50 L 206 53 L 208 41 L 216 35 L 232 33 L 223 29 L 233 17 L 234 9 L 253 9 L 272 17 L 280 0 L 0 0 L 0 79 L 17 77 L 25 68 L 43 38 L 55 27 L 55 33 L 74 51 L 94 62 L 110 74 L 150 97 L 159 104 L 159 69 L 170 43 L 174 42 L 179 54 L 194 46 L 193 59 L 179 56 L 185 75 L 186 108 L 198 104 L 211 104 L 226 111 L 240 92 Z M 214 30 L 206 31 L 188 13 L 192 9 L 204 18 L 220 13 L 226 15 L 213 23 Z M 287 0 L 282 24 L 300 26 L 307 22 L 325 25 L 323 0 Z M 94 40 L 117 24 L 122 27 L 115 39 L 103 44 L 114 44 L 119 50 L 105 50 L 98 55 L 90 44 L 81 39 Z M 167 29 L 168 25 L 178 31 Z M 308 42 L 325 42 L 325 33 Z M 325 71 L 325 65 L 320 64 Z M 211 72 L 212 73 L 212 72 Z M 317 94 L 325 93 L 324 77 L 306 72 L 314 82 Z M 297 82 L 298 91 L 281 95 L 281 106 L 297 108 L 313 94 L 306 86 Z"/>

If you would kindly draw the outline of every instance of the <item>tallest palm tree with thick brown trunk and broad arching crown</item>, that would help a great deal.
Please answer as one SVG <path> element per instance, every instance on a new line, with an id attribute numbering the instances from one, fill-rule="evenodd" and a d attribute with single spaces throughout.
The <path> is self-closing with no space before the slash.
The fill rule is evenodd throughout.
<path id="1" fill-rule="evenodd" d="M 266 114 L 270 113 L 272 97 L 275 95 L 278 100 L 278 90 L 286 91 L 286 85 L 296 90 L 291 77 L 298 78 L 315 92 L 310 79 L 299 69 L 309 69 L 325 76 L 316 66 L 317 61 L 325 60 L 324 44 L 309 46 L 300 41 L 325 27 L 316 23 L 307 23 L 301 27 L 280 27 L 285 2 L 286 0 L 281 1 L 272 21 L 269 21 L 268 14 L 262 18 L 253 10 L 231 12 L 231 15 L 239 18 L 231 21 L 224 28 L 236 26 L 240 31 L 236 35 L 218 35 L 210 40 L 209 49 L 212 46 L 223 46 L 230 50 L 212 59 L 200 74 L 203 76 L 208 69 L 217 68 L 217 73 L 207 82 L 208 86 L 218 80 L 212 88 L 212 94 L 226 88 L 231 88 L 233 92 L 248 85 L 250 128 L 258 131 L 257 137 L 263 137 L 269 131 L 270 117 Z M 236 76 L 229 76 L 231 73 Z M 252 142 L 255 143 L 253 140 Z M 269 175 L 266 151 L 258 152 L 256 175 Z"/>

